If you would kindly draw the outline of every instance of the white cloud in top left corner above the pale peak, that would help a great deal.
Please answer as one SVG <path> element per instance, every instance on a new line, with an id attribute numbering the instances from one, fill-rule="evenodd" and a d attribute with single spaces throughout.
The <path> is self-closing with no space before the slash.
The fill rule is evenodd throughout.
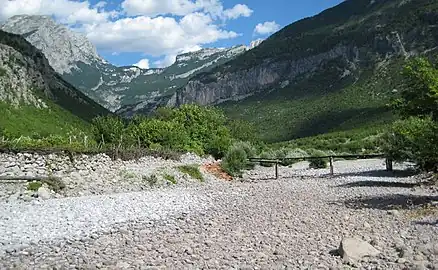
<path id="1" fill-rule="evenodd" d="M 53 15 L 61 23 L 100 23 L 114 16 L 115 12 L 99 11 L 88 1 L 71 0 L 0 0 L 0 19 L 18 14 Z"/>

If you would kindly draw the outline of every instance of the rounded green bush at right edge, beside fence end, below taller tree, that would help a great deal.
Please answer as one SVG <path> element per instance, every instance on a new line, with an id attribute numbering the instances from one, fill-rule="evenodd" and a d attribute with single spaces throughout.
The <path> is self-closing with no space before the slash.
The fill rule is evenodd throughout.
<path id="1" fill-rule="evenodd" d="M 397 121 L 383 136 L 383 151 L 395 161 L 412 161 L 419 169 L 437 171 L 438 124 L 430 117 Z"/>

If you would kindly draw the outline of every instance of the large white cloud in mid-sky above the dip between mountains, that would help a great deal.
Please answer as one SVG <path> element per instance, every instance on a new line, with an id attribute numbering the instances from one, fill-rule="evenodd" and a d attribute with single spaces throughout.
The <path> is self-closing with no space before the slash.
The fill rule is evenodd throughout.
<path id="1" fill-rule="evenodd" d="M 100 49 L 117 52 L 143 52 L 160 56 L 177 54 L 187 47 L 237 37 L 233 31 L 220 29 L 201 13 L 171 17 L 123 18 L 90 25 L 87 37 Z"/>

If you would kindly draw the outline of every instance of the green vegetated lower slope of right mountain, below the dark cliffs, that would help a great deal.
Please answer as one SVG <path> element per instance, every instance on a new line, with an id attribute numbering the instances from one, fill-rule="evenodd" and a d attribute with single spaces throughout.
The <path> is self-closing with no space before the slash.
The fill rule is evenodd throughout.
<path id="1" fill-rule="evenodd" d="M 340 75 L 321 75 L 273 91 L 269 96 L 259 94 L 221 107 L 231 119 L 253 123 L 256 133 L 267 143 L 351 130 L 362 133 L 382 129 L 395 119 L 386 105 L 394 95 L 392 90 L 399 85 L 397 73 L 401 63 L 384 67 L 355 84 L 346 81 L 347 85 L 329 87 L 323 82 L 337 81 Z"/>

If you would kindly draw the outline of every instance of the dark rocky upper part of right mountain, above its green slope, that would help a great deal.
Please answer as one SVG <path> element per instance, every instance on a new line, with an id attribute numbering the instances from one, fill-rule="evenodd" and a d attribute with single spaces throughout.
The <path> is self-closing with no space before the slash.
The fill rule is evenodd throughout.
<path id="1" fill-rule="evenodd" d="M 287 26 L 254 50 L 191 79 L 166 105 L 238 101 L 292 88 L 325 72 L 338 80 L 364 79 L 398 57 L 433 50 L 438 41 L 436 1 L 347 0 Z M 336 61 L 337 64 L 329 64 Z M 366 75 L 363 75 L 366 74 Z"/>

